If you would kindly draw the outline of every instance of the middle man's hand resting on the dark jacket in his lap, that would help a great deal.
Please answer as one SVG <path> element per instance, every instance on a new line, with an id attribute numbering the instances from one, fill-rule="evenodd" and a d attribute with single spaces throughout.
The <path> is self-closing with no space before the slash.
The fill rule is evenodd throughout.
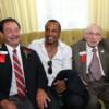
<path id="1" fill-rule="evenodd" d="M 53 83 L 55 89 L 58 94 L 61 94 L 66 90 L 66 85 L 64 80 L 58 80 Z"/>

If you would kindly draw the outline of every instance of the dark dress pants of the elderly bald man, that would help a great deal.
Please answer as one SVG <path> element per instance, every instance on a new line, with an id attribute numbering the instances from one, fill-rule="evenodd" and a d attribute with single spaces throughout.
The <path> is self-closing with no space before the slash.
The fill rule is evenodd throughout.
<path id="1" fill-rule="evenodd" d="M 105 104 L 105 109 L 109 109 L 109 82 L 105 77 L 89 84 L 90 100 L 86 109 L 100 109 L 99 99 Z"/>

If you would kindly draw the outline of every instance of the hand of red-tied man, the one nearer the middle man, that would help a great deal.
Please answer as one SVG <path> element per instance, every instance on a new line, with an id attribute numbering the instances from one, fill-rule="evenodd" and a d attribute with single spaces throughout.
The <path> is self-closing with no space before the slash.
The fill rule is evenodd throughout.
<path id="1" fill-rule="evenodd" d="M 37 95 L 36 95 L 36 100 L 38 104 L 39 109 L 45 109 L 48 107 L 48 102 L 50 102 L 50 98 L 46 94 L 44 89 L 38 89 Z"/>

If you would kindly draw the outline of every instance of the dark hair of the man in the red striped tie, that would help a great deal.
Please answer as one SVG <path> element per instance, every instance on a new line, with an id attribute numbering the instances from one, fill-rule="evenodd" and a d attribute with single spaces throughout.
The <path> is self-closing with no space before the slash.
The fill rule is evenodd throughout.
<path id="1" fill-rule="evenodd" d="M 20 23 L 19 23 L 15 19 L 7 17 L 7 19 L 3 19 L 3 20 L 0 21 L 0 32 L 3 33 L 3 26 L 4 26 L 4 24 L 8 23 L 8 22 L 14 22 L 14 23 L 17 24 L 19 28 L 21 28 Z"/>

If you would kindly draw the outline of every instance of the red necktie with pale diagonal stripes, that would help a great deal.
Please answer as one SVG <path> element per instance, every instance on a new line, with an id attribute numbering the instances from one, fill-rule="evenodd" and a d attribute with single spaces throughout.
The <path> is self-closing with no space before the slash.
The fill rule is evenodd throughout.
<path id="1" fill-rule="evenodd" d="M 13 66 L 16 77 L 17 95 L 20 99 L 24 100 L 26 97 L 25 81 L 23 76 L 23 70 L 21 69 L 21 63 L 17 58 L 16 50 L 13 50 Z"/>

